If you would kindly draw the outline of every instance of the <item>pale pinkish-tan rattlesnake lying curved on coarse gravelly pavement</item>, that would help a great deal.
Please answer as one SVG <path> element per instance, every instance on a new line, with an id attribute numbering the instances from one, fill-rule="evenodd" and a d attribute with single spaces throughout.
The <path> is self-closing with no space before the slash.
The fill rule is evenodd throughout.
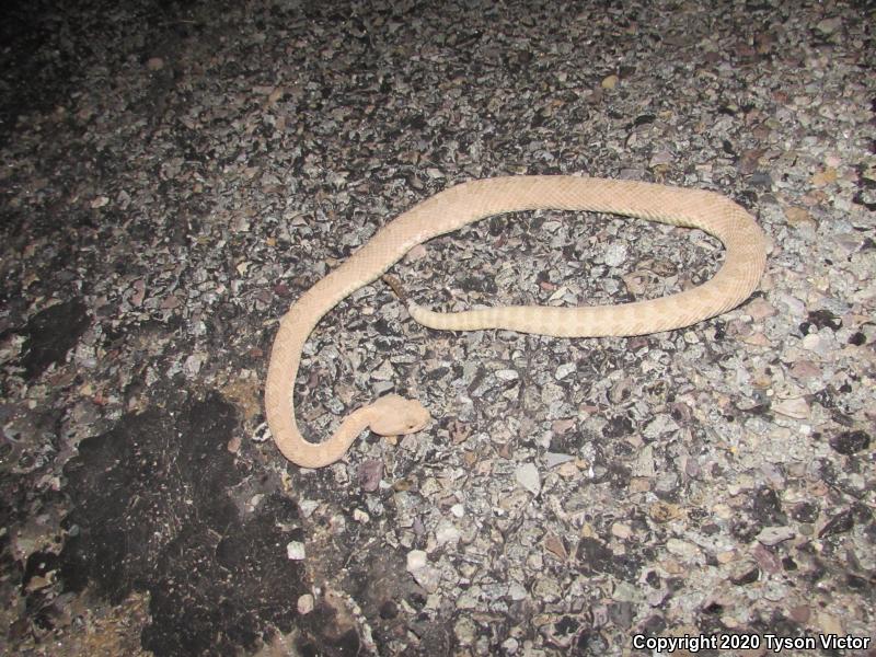
<path id="1" fill-rule="evenodd" d="M 429 413 L 414 400 L 391 394 L 349 414 L 332 438 L 309 442 L 295 420 L 292 388 L 304 342 L 342 299 L 380 277 L 413 246 L 466 223 L 519 210 L 553 208 L 638 217 L 699 228 L 726 247 L 724 265 L 703 285 L 621 306 L 555 308 L 519 306 L 436 313 L 411 303 L 411 316 L 431 328 L 507 328 L 558 337 L 642 335 L 694 324 L 745 301 L 766 261 L 763 232 L 751 215 L 713 193 L 633 181 L 576 176 L 508 176 L 450 187 L 399 216 L 336 269 L 304 292 L 280 320 L 265 385 L 265 410 L 283 454 L 306 468 L 338 460 L 366 428 L 384 436 L 418 431 Z"/>

